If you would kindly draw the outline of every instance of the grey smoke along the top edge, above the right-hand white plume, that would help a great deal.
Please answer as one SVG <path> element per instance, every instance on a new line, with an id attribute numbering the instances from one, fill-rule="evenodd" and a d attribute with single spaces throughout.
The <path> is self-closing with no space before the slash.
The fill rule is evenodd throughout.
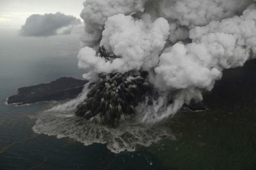
<path id="1" fill-rule="evenodd" d="M 189 29 L 239 15 L 251 3 L 252 0 L 148 0 L 145 12 L 169 20 L 169 40 L 177 42 L 189 38 Z"/>

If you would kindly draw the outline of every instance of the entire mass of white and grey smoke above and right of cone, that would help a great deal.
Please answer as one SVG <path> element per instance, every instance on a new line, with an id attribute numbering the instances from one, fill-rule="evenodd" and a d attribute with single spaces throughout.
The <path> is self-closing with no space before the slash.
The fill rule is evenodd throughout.
<path id="1" fill-rule="evenodd" d="M 222 71 L 256 54 L 255 0 L 86 0 L 79 68 L 99 73 L 148 71 L 162 94 L 143 121 L 174 115 L 203 99 Z M 29 23 L 29 22 L 28 22 Z M 104 45 L 120 58 L 97 54 Z M 166 99 L 173 100 L 166 105 Z"/>

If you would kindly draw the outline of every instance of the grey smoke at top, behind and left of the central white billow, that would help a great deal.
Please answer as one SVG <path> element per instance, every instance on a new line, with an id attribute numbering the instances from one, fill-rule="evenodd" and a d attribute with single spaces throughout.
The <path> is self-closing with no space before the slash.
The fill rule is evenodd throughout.
<path id="1" fill-rule="evenodd" d="M 83 46 L 99 45 L 108 17 L 115 14 L 132 15 L 144 11 L 147 0 L 86 0 L 80 16 L 84 19 Z"/>

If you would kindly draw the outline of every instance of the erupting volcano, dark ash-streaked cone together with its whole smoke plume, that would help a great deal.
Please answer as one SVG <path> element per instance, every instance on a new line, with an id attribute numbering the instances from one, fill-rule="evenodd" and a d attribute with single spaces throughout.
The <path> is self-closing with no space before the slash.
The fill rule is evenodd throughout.
<path id="1" fill-rule="evenodd" d="M 141 122 L 173 116 L 256 54 L 253 0 L 87 0 L 81 18 L 76 115 L 111 127 L 142 105 Z"/>

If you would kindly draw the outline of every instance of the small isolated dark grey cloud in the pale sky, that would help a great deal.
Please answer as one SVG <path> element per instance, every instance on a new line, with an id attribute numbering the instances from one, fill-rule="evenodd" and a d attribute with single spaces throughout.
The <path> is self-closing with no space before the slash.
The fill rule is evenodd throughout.
<path id="1" fill-rule="evenodd" d="M 20 34 L 28 37 L 47 37 L 57 34 L 79 33 L 80 24 L 80 19 L 60 12 L 44 15 L 33 14 L 26 19 Z"/>

